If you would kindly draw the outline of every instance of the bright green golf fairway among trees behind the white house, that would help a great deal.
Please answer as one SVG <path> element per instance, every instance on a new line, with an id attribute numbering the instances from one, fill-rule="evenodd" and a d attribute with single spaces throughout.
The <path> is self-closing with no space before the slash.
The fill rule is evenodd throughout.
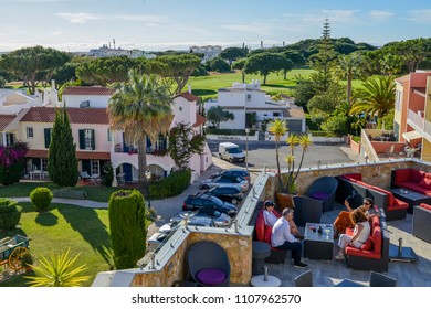
<path id="1" fill-rule="evenodd" d="M 302 76 L 308 78 L 309 74 L 313 73 L 313 70 L 298 68 L 292 70 L 287 73 L 287 79 L 283 79 L 283 75 L 271 73 L 266 78 L 266 85 L 262 85 L 262 89 L 269 93 L 282 93 L 288 96 L 293 95 L 293 88 L 296 85 L 296 76 Z M 263 82 L 263 76 L 257 74 L 246 74 L 245 83 L 251 83 L 252 79 L 260 79 Z M 190 77 L 189 84 L 191 85 L 192 93 L 197 96 L 207 97 L 217 97 L 217 92 L 219 88 L 225 88 L 232 86 L 233 82 L 242 82 L 241 72 L 235 73 L 224 73 L 224 74 L 214 74 L 209 76 L 198 76 Z M 183 90 L 187 90 L 185 87 Z"/>

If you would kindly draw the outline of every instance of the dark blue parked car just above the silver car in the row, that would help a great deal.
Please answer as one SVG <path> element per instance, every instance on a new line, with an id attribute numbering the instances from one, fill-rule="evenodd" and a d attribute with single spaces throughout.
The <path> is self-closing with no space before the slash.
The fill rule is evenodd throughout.
<path id="1" fill-rule="evenodd" d="M 238 189 L 239 190 L 239 189 Z M 210 194 L 189 195 L 182 202 L 182 211 L 196 211 L 199 209 L 216 209 L 229 216 L 236 215 L 236 207 Z"/>

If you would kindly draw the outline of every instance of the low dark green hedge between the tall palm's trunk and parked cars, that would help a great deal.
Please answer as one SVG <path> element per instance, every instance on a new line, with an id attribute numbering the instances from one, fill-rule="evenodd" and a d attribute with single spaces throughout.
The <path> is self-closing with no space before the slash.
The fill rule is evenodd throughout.
<path id="1" fill-rule="evenodd" d="M 190 179 L 190 170 L 171 172 L 167 178 L 150 184 L 149 195 L 151 199 L 165 199 L 178 195 L 189 187 Z"/>

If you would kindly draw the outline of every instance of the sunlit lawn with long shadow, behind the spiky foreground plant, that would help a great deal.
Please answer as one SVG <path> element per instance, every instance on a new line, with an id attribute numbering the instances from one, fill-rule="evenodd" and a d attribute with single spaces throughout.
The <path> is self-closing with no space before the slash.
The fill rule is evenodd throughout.
<path id="1" fill-rule="evenodd" d="M 33 259 L 41 256 L 60 254 L 71 248 L 71 256 L 81 253 L 77 265 L 86 264 L 84 275 L 91 276 L 86 283 L 90 286 L 98 271 L 109 270 L 112 251 L 108 227 L 108 211 L 85 209 L 69 204 L 52 204 L 52 210 L 45 214 L 33 211 L 30 203 L 22 205 L 21 228 L 1 232 L 0 238 L 15 234 L 31 238 L 30 249 Z M 3 286 L 21 287 L 27 279 L 14 277 L 0 284 Z"/>

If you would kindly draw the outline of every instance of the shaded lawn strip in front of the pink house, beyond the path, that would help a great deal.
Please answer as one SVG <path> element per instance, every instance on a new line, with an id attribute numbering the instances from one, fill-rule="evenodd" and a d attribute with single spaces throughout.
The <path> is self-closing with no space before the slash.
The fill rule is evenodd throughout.
<path id="1" fill-rule="evenodd" d="M 2 198 L 30 196 L 30 192 L 38 187 L 46 187 L 50 190 L 61 188 L 52 182 L 18 182 L 7 187 L 0 187 L 0 196 Z M 87 193 L 87 200 L 96 201 L 96 202 L 108 202 L 111 194 L 119 190 L 118 188 L 99 187 L 99 185 L 83 185 L 83 187 L 74 187 L 71 189 L 85 191 Z"/>

